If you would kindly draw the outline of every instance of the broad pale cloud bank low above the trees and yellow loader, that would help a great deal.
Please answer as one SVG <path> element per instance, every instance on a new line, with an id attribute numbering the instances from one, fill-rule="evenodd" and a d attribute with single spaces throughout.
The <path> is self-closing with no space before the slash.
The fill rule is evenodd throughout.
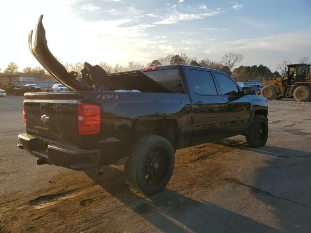
<path id="1" fill-rule="evenodd" d="M 228 51 L 241 53 L 248 65 L 263 64 L 275 69 L 281 60 L 290 58 L 297 62 L 301 54 L 311 51 L 311 32 L 284 33 L 253 39 L 218 42 L 205 46 L 203 50 L 215 60 L 221 59 Z M 201 54 L 201 56 L 204 56 Z M 242 65 L 242 64 L 241 64 Z M 245 65 L 245 64 L 243 64 Z"/>

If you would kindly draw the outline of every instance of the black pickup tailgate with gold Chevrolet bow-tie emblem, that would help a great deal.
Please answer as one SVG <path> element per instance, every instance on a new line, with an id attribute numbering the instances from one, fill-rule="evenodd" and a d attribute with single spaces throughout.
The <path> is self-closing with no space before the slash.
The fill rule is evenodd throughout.
<path id="1" fill-rule="evenodd" d="M 78 145 L 76 93 L 26 94 L 26 131 L 45 138 Z"/>

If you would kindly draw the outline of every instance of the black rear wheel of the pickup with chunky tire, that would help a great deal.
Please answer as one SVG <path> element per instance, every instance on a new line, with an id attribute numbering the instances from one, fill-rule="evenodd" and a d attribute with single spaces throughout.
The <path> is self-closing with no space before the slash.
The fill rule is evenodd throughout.
<path id="1" fill-rule="evenodd" d="M 145 195 L 161 191 L 169 183 L 175 163 L 172 144 L 164 137 L 145 135 L 134 144 L 124 171 L 131 187 Z"/>

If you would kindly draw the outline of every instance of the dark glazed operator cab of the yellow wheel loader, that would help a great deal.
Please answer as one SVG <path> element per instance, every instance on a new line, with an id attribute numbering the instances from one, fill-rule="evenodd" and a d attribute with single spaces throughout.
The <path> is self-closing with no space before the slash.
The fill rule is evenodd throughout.
<path id="1" fill-rule="evenodd" d="M 296 82 L 310 82 L 307 74 L 310 73 L 310 65 L 308 64 L 291 64 L 288 65 L 287 85 L 294 85 Z"/>

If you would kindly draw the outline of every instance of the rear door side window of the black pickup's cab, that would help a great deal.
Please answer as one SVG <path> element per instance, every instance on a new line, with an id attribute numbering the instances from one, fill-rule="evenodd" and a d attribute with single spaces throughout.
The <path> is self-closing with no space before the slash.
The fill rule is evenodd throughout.
<path id="1" fill-rule="evenodd" d="M 215 83 L 209 71 L 189 69 L 189 73 L 195 94 L 217 95 Z"/>

